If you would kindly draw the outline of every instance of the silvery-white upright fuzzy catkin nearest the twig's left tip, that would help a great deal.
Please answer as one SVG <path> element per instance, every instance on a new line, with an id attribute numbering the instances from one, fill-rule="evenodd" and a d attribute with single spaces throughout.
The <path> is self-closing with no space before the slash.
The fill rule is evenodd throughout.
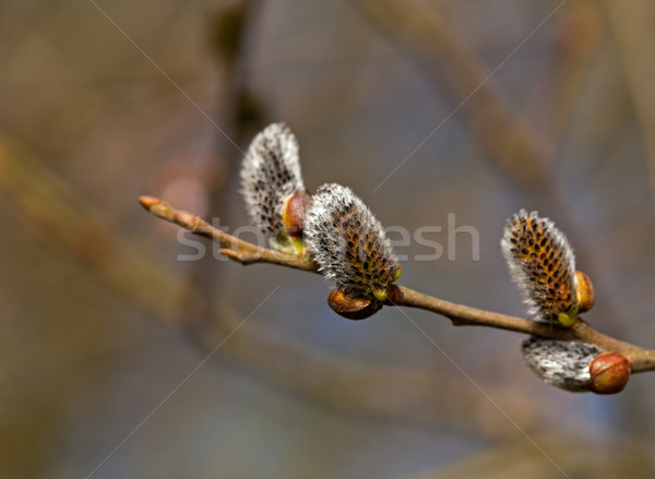
<path id="1" fill-rule="evenodd" d="M 243 158 L 241 192 L 252 223 L 277 250 L 297 253 L 301 249 L 283 216 L 289 203 L 297 201 L 290 199 L 303 190 L 296 136 L 284 123 L 270 124 L 254 137 Z M 297 217 L 301 209 L 294 206 L 294 212 L 296 217 L 289 218 L 289 224 L 301 224 Z"/>

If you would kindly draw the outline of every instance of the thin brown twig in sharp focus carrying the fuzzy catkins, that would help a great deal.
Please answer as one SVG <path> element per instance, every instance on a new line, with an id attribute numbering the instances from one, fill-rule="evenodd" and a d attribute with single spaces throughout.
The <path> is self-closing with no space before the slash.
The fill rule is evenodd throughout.
<path id="1" fill-rule="evenodd" d="M 213 227 L 198 215 L 177 211 L 155 196 L 141 196 L 143 207 L 153 215 L 188 229 L 194 235 L 212 239 L 221 247 L 218 252 L 243 265 L 271 263 L 279 266 L 319 273 L 318 266 L 307 255 L 284 254 L 240 240 Z M 580 319 L 573 327 L 561 327 L 524 318 L 495 313 L 464 304 L 434 298 L 405 286 L 392 286 L 386 302 L 389 306 L 417 308 L 440 314 L 451 320 L 455 326 L 486 326 L 496 330 L 513 331 L 562 340 L 581 340 L 615 351 L 628 358 L 633 372 L 655 370 L 655 350 L 642 348 L 604 335 Z"/>

